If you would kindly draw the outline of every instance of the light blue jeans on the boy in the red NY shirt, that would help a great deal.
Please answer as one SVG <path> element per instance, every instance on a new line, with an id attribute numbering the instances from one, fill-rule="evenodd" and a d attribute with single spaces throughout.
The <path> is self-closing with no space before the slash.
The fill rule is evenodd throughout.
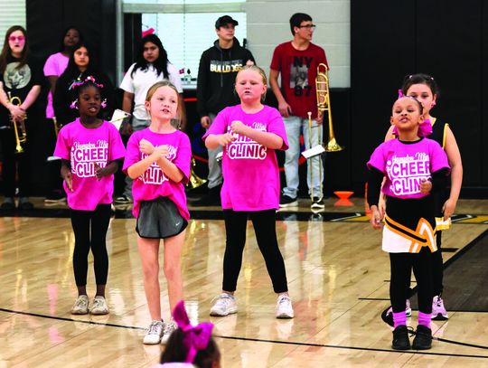
<path id="1" fill-rule="evenodd" d="M 300 178 L 298 176 L 298 158 L 300 157 L 300 130 L 303 130 L 305 149 L 310 148 L 308 118 L 300 118 L 290 116 L 283 118 L 286 128 L 286 137 L 288 138 L 289 148 L 285 151 L 285 176 L 286 187 L 283 188 L 283 194 L 296 198 L 298 194 L 298 184 Z M 321 144 L 318 140 L 318 133 L 322 133 L 322 125 L 317 127 L 317 122 L 312 120 L 312 146 Z M 321 134 L 322 137 L 322 134 Z M 306 162 L 306 185 L 308 193 L 311 193 L 310 188 L 314 189 L 314 197 L 322 198 L 321 183 L 324 182 L 324 167 L 321 168 L 322 159 L 320 156 L 310 158 Z M 313 183 L 312 183 L 313 182 Z"/>

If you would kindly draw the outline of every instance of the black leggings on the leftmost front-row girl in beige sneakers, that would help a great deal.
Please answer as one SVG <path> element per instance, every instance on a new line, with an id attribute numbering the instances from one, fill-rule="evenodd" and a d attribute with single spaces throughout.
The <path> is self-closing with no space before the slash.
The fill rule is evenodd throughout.
<path id="1" fill-rule="evenodd" d="M 110 222 L 110 204 L 99 204 L 94 211 L 71 210 L 71 225 L 75 234 L 73 269 L 77 287 L 87 285 L 90 248 L 93 253 L 97 285 L 107 284 L 108 254 L 105 240 L 108 222 Z"/>

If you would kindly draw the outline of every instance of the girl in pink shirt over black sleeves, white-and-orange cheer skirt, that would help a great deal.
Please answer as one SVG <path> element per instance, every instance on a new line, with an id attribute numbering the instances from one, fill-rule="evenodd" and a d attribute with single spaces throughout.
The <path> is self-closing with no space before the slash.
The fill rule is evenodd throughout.
<path id="1" fill-rule="evenodd" d="M 380 229 L 382 213 L 378 208 L 380 186 L 386 194 L 387 212 L 382 249 L 389 252 L 389 298 L 393 308 L 393 342 L 396 350 L 430 349 L 432 330 L 432 254 L 436 248 L 436 207 L 432 193 L 442 190 L 449 164 L 439 144 L 425 138 L 432 131 L 424 121 L 421 103 L 400 97 L 393 105 L 391 123 L 398 138 L 382 143 L 368 162 L 368 203 L 371 224 Z M 408 340 L 406 300 L 413 269 L 418 286 L 418 327 L 413 344 Z"/>

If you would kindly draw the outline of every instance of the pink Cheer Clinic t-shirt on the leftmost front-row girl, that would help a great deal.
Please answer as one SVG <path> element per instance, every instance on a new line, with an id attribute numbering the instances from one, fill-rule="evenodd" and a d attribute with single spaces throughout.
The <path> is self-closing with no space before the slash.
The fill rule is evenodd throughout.
<path id="1" fill-rule="evenodd" d="M 105 167 L 124 154 L 120 134 L 108 121 L 90 129 L 77 118 L 61 128 L 54 156 L 70 160 L 73 191 L 68 189 L 66 182 L 63 186 L 71 209 L 93 211 L 99 203 L 112 203 L 114 175 L 97 179 L 95 165 Z"/>

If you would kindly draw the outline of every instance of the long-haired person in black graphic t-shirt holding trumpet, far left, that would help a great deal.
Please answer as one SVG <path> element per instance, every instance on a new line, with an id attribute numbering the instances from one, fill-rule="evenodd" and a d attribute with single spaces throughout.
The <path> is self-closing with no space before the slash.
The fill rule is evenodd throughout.
<path id="1" fill-rule="evenodd" d="M 1 204 L 3 210 L 14 210 L 17 186 L 19 209 L 33 209 L 33 203 L 29 202 L 31 168 L 28 142 L 32 140 L 29 126 L 34 125 L 33 119 L 38 115 L 35 101 L 41 92 L 41 85 L 42 66 L 29 52 L 25 29 L 20 25 L 14 25 L 5 33 L 4 48 L 0 53 L 0 155 L 5 195 L 4 202 Z M 21 149 L 17 148 L 12 123 L 23 119 L 25 119 L 28 140 L 22 145 L 23 152 L 19 153 Z M 17 183 L 15 183 L 15 175 L 17 175 Z"/>

